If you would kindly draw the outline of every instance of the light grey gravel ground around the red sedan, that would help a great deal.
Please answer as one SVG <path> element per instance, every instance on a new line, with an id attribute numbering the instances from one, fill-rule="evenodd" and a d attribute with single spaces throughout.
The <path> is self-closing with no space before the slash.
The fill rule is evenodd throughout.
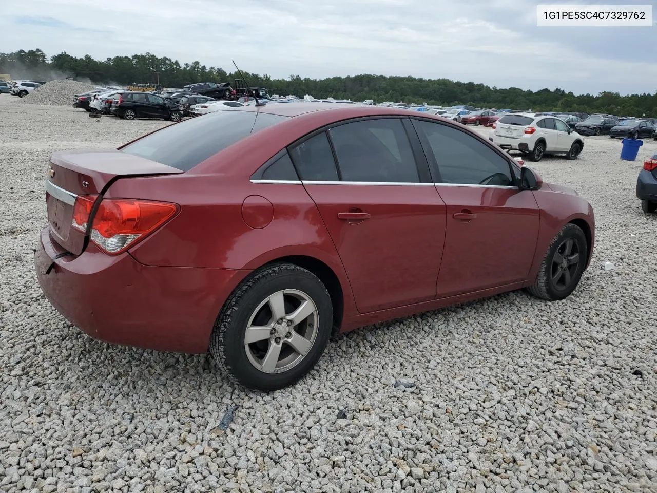
<path id="1" fill-rule="evenodd" d="M 619 141 L 587 137 L 578 160 L 535 165 L 595 208 L 567 300 L 510 293 L 367 327 L 258 394 L 206 356 L 90 339 L 45 300 L 32 247 L 49 154 L 166 123 L 14 101 L 0 97 L 0 491 L 657 491 L 657 214 L 634 195 L 657 142 L 623 162 Z"/>

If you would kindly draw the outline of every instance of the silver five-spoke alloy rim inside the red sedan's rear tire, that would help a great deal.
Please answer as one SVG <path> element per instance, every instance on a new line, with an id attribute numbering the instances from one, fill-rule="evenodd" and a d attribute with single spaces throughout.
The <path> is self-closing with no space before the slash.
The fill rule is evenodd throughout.
<path id="1" fill-rule="evenodd" d="M 315 302 L 303 291 L 283 289 L 263 300 L 244 332 L 244 350 L 254 367 L 281 373 L 310 352 L 319 326 Z"/>

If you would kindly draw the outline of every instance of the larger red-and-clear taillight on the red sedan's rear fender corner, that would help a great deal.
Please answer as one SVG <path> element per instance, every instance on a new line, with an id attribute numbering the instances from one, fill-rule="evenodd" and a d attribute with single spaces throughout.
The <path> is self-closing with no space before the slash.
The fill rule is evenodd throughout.
<path id="1" fill-rule="evenodd" d="M 164 225 L 178 210 L 175 204 L 150 200 L 104 199 L 93 216 L 91 241 L 116 255 Z"/>

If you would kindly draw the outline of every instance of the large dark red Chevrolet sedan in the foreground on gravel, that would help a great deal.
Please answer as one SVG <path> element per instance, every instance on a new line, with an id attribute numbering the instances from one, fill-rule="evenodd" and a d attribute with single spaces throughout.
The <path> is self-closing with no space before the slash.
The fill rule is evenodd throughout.
<path id="1" fill-rule="evenodd" d="M 444 118 L 327 106 L 247 106 L 53 154 L 41 289 L 91 337 L 210 350 L 273 390 L 337 331 L 576 288 L 595 222 L 575 191 Z"/>

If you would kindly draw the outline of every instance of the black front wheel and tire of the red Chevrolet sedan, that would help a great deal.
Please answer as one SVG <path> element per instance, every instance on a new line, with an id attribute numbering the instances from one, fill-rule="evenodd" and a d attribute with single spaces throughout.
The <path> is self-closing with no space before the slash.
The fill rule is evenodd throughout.
<path id="1" fill-rule="evenodd" d="M 584 232 L 577 225 L 566 224 L 547 249 L 536 281 L 528 291 L 544 300 L 566 298 L 577 287 L 588 255 Z"/>

